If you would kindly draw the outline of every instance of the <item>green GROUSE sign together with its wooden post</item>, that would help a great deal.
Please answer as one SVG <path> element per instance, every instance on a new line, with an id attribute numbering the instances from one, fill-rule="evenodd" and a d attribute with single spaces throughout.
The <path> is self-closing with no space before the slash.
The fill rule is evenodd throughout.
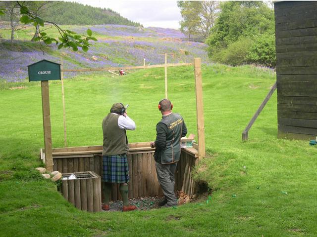
<path id="1" fill-rule="evenodd" d="M 60 64 L 42 60 L 28 66 L 29 81 L 41 81 L 45 164 L 53 171 L 49 80 L 60 80 Z"/>

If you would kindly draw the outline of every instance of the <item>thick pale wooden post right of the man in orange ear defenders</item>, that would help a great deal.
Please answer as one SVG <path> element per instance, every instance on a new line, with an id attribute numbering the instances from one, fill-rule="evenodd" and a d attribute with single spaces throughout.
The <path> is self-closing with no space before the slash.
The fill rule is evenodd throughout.
<path id="1" fill-rule="evenodd" d="M 199 158 L 206 156 L 201 59 L 194 58 Z"/>

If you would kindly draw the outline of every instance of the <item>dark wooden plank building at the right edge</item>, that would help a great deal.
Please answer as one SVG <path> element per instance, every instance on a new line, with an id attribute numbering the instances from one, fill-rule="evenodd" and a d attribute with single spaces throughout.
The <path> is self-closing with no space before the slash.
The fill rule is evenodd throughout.
<path id="1" fill-rule="evenodd" d="M 317 136 L 317 1 L 276 1 L 278 137 Z"/>

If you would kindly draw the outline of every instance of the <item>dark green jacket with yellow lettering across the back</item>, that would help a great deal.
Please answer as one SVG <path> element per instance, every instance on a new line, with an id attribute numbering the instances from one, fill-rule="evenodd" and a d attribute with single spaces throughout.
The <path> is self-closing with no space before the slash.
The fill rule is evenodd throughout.
<path id="1" fill-rule="evenodd" d="M 187 134 L 184 119 L 176 113 L 163 116 L 157 124 L 155 161 L 160 164 L 177 162 L 180 158 L 180 138 Z"/>

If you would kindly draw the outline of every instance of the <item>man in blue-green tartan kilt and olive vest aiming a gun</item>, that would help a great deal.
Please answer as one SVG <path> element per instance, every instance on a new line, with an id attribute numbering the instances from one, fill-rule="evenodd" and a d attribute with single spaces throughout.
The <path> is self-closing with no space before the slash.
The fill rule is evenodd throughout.
<path id="1" fill-rule="evenodd" d="M 121 103 L 115 103 L 110 113 L 103 120 L 103 210 L 109 210 L 111 184 L 119 183 L 123 199 L 122 211 L 132 211 L 136 206 L 128 200 L 129 167 L 127 161 L 128 138 L 126 130 L 134 130 L 135 122 L 127 116 L 126 108 Z"/>

